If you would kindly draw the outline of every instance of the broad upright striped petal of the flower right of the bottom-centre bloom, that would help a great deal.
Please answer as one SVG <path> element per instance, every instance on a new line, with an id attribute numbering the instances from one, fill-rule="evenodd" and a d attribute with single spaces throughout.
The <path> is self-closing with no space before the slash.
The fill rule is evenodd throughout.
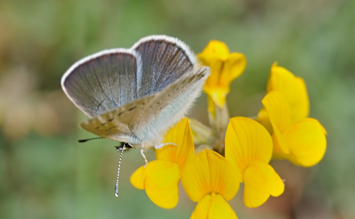
<path id="1" fill-rule="evenodd" d="M 235 164 L 240 173 L 254 161 L 269 163 L 272 155 L 272 139 L 258 122 L 245 117 L 229 120 L 225 134 L 225 158 Z"/>

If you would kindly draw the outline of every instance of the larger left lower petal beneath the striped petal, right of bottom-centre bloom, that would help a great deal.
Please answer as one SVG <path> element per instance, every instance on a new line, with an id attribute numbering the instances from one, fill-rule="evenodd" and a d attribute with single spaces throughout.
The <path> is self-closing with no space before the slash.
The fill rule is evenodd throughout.
<path id="1" fill-rule="evenodd" d="M 246 207 L 261 206 L 269 198 L 273 180 L 269 164 L 256 161 L 244 171 L 244 204 Z"/>

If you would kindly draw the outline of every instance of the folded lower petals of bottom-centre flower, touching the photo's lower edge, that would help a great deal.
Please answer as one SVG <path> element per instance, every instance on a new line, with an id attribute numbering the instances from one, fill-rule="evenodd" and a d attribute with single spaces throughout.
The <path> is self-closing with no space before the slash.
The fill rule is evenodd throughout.
<path id="1" fill-rule="evenodd" d="M 233 209 L 224 198 L 212 192 L 205 195 L 196 205 L 190 219 L 218 219 L 218 218 L 233 218 L 237 219 Z"/>

